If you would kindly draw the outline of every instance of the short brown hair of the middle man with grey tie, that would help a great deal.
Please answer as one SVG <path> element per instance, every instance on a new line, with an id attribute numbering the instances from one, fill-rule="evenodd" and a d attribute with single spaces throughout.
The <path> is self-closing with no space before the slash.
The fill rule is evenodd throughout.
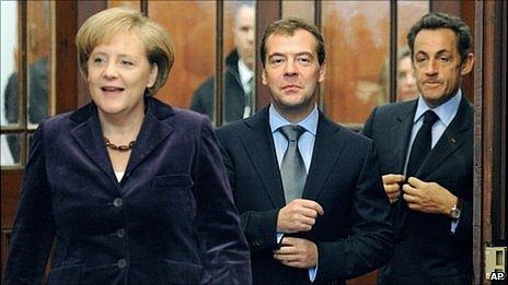
<path id="1" fill-rule="evenodd" d="M 324 51 L 324 40 L 323 36 L 321 35 L 320 29 L 308 22 L 305 22 L 302 19 L 298 17 L 287 17 L 282 19 L 276 22 L 270 23 L 266 28 L 265 33 L 263 34 L 263 39 L 261 40 L 261 61 L 263 63 L 263 67 L 265 67 L 265 61 L 266 61 L 266 40 L 268 37 L 273 34 L 276 35 L 287 35 L 287 36 L 292 36 L 295 35 L 295 32 L 298 29 L 304 29 L 309 33 L 311 33 L 316 41 L 316 54 L 318 54 L 318 61 L 320 62 L 320 66 L 323 64 L 324 59 L 325 59 L 325 51 Z"/>

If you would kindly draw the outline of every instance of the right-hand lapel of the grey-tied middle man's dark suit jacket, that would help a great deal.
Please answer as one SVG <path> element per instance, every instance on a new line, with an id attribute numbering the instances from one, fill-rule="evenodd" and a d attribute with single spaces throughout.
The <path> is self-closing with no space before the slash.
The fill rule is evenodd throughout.
<path id="1" fill-rule="evenodd" d="M 328 121 L 320 111 L 311 166 L 309 175 L 307 176 L 302 198 L 315 200 L 323 190 L 323 186 L 335 162 L 338 159 L 345 143 L 345 141 L 337 135 L 339 130 L 337 126 Z"/>

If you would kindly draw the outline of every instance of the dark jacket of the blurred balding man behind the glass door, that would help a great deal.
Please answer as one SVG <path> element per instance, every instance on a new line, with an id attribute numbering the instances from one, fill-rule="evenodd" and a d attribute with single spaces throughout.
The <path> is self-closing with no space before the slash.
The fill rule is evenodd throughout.
<path id="1" fill-rule="evenodd" d="M 226 59 L 224 73 L 224 122 L 231 122 L 243 118 L 245 108 L 245 92 L 243 91 L 238 69 L 239 55 L 233 50 Z M 209 78 L 194 93 L 190 109 L 205 114 L 213 119 L 213 92 L 216 78 Z"/>

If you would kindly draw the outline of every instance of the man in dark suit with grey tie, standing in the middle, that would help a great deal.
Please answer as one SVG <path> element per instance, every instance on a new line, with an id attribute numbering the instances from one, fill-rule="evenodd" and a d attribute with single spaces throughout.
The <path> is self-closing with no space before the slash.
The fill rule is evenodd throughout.
<path id="1" fill-rule="evenodd" d="M 376 147 L 316 108 L 321 33 L 274 22 L 261 58 L 272 104 L 217 131 L 254 284 L 343 283 L 384 264 L 392 227 Z"/>

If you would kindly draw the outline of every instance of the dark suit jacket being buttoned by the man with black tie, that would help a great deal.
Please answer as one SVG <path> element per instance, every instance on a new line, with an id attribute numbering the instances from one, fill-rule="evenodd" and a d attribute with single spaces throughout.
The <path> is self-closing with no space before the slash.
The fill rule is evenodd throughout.
<path id="1" fill-rule="evenodd" d="M 365 124 L 363 133 L 379 150 L 382 175 L 403 174 L 416 106 L 417 100 L 412 100 L 378 107 Z M 400 200 L 392 213 L 397 241 L 395 254 L 381 272 L 380 282 L 469 284 L 473 270 L 473 108 L 465 97 L 416 176 L 463 198 L 457 231 L 450 233 L 448 216 L 408 210 Z"/>

